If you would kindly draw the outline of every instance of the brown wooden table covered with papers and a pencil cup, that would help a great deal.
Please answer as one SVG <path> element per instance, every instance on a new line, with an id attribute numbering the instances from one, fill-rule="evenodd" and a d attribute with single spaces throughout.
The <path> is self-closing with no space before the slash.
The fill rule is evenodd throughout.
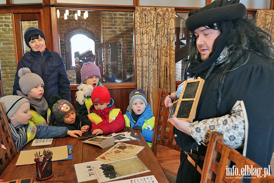
<path id="1" fill-rule="evenodd" d="M 127 130 L 131 131 L 131 130 Z M 142 162 L 151 170 L 151 172 L 138 174 L 135 176 L 127 177 L 124 179 L 131 179 L 136 177 L 154 175 L 159 183 L 169 183 L 169 180 L 164 173 L 162 167 L 160 166 L 158 160 L 154 156 L 152 150 L 147 145 L 145 139 L 142 137 L 139 130 L 133 130 L 138 134 L 140 141 L 131 140 L 126 141 L 125 143 L 145 146 L 141 152 L 138 153 L 138 157 Z M 79 140 L 78 138 L 72 138 L 70 136 L 65 138 L 54 138 L 51 145 L 42 145 L 42 146 L 30 146 L 32 141 L 26 144 L 23 148 L 25 149 L 40 149 L 47 147 L 56 147 L 62 145 L 73 145 L 73 159 L 72 160 L 62 160 L 62 161 L 54 161 L 52 162 L 52 168 L 54 176 L 49 181 L 57 181 L 57 180 L 71 180 L 72 183 L 77 182 L 76 172 L 74 169 L 74 164 L 84 163 L 93 161 L 94 158 L 97 158 L 99 155 L 107 151 L 109 148 L 101 149 L 99 146 L 91 145 L 87 143 L 82 143 L 84 140 Z M 9 166 L 5 169 L 5 171 L 0 176 L 0 179 L 4 179 L 4 181 L 11 181 L 15 179 L 23 179 L 23 178 L 33 178 L 33 181 L 37 181 L 35 178 L 36 168 L 35 164 L 30 165 L 21 165 L 15 166 L 19 154 L 12 160 Z M 34 158 L 34 157 L 33 157 Z M 118 179 L 123 180 L 123 179 Z M 87 181 L 89 183 L 97 183 L 97 180 Z"/>

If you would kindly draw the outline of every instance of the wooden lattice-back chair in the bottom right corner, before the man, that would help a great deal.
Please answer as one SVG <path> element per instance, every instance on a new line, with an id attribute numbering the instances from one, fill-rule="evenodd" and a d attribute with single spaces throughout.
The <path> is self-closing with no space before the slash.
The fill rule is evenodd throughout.
<path id="1" fill-rule="evenodd" d="M 230 163 L 234 162 L 235 166 L 230 168 Z M 260 178 L 257 175 L 251 176 L 248 181 L 251 182 L 274 182 L 274 176 L 265 172 L 262 167 L 240 154 L 235 149 L 223 143 L 223 135 L 217 132 L 213 132 L 209 145 L 206 151 L 206 158 L 202 169 L 201 183 L 213 183 L 213 182 L 243 182 L 247 179 L 243 179 L 241 176 L 241 168 L 244 167 L 253 168 L 253 170 L 261 170 Z M 254 169 L 256 168 L 256 169 Z M 238 174 L 235 175 L 238 170 Z M 234 174 L 234 176 L 233 176 Z M 246 173 L 245 173 L 246 174 Z M 229 175 L 229 176 L 228 176 Z"/>

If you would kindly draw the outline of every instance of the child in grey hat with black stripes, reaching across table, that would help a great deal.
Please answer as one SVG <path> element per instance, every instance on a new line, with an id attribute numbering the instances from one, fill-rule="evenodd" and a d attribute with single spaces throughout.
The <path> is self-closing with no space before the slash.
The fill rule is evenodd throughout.
<path id="1" fill-rule="evenodd" d="M 76 134 L 82 136 L 81 131 L 68 130 L 67 127 L 35 125 L 30 120 L 30 102 L 24 97 L 6 95 L 1 97 L 0 102 L 9 121 L 9 127 L 18 152 L 33 138 L 61 138 L 67 135 L 78 138 Z"/>

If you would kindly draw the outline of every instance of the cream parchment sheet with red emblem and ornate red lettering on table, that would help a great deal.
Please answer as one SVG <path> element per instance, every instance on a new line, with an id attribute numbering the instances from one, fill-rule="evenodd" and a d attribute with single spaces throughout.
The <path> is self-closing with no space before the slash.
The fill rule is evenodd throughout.
<path id="1" fill-rule="evenodd" d="M 144 146 L 139 145 L 132 145 L 132 144 L 126 144 L 126 143 L 117 143 L 110 149 L 108 149 L 106 152 L 104 152 L 102 155 L 97 157 L 95 160 L 100 161 L 115 161 L 115 160 L 121 160 L 125 158 L 130 158 L 133 156 L 136 156 L 142 149 L 144 149 Z"/>

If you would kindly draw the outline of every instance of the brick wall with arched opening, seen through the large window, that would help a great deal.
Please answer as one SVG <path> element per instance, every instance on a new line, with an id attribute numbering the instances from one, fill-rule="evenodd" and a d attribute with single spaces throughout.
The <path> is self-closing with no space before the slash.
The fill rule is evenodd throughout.
<path id="1" fill-rule="evenodd" d="M 60 15 L 64 15 L 65 10 L 60 10 Z M 133 12 L 106 12 L 106 11 L 89 11 L 89 17 L 87 19 L 83 19 L 83 11 L 82 16 L 78 17 L 78 20 L 74 19 L 73 14 L 75 11 L 69 10 L 70 16 L 68 16 L 67 20 L 64 20 L 64 16 L 60 16 L 58 19 L 58 29 L 59 29 L 59 37 L 60 37 L 60 55 L 64 59 L 64 63 L 67 63 L 66 52 L 70 52 L 70 50 L 66 49 L 66 35 L 75 28 L 86 28 L 90 30 L 94 34 L 95 38 L 95 48 L 104 41 L 107 41 L 113 36 L 128 30 L 134 26 L 133 23 Z M 127 47 L 127 66 L 133 65 L 133 35 L 130 34 L 125 39 L 126 47 Z M 121 41 L 117 44 L 118 49 L 118 72 L 121 72 Z M 81 53 L 80 53 L 81 54 Z M 94 54 L 94 53 L 93 53 Z M 107 52 L 102 53 L 103 57 L 103 68 L 107 70 L 106 64 L 109 63 L 110 49 L 107 49 Z M 68 67 L 67 67 L 68 68 Z M 68 78 L 72 84 L 76 83 L 76 74 L 75 70 L 68 70 Z M 115 73 L 116 74 L 116 73 Z"/>

